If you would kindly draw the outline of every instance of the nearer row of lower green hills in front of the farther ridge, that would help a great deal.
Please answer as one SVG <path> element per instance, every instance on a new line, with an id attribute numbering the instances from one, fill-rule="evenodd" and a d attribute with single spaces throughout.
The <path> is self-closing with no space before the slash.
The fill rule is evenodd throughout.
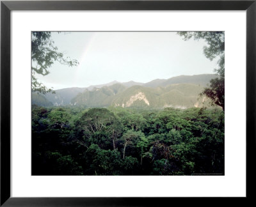
<path id="1" fill-rule="evenodd" d="M 73 98 L 71 103 L 72 105 L 87 107 L 113 105 L 115 107 L 175 107 L 186 109 L 201 107 L 207 102 L 207 99 L 198 96 L 203 89 L 202 86 L 195 84 L 174 84 L 166 88 L 144 86 L 125 88 L 122 84 L 115 84 L 93 91 L 84 91 Z"/>

